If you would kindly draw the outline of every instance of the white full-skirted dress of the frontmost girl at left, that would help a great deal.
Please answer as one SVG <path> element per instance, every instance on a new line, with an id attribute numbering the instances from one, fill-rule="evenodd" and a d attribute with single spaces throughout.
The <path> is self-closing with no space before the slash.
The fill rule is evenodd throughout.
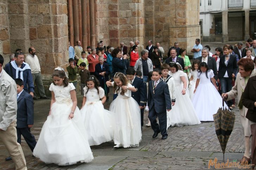
<path id="1" fill-rule="evenodd" d="M 47 117 L 33 151 L 33 155 L 45 163 L 70 165 L 93 159 L 77 107 L 74 117 L 69 119 L 73 106 L 70 91 L 74 89 L 72 83 L 67 87 L 52 83 L 49 88 L 54 92 L 56 101 L 52 103 L 51 115 Z"/>

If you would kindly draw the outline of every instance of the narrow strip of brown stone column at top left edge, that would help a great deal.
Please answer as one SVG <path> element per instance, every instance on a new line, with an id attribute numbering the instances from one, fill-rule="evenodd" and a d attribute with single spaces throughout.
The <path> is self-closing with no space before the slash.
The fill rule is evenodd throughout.
<path id="1" fill-rule="evenodd" d="M 0 1 L 0 54 L 4 57 L 4 64 L 9 62 L 11 53 L 7 7 L 7 2 Z"/>

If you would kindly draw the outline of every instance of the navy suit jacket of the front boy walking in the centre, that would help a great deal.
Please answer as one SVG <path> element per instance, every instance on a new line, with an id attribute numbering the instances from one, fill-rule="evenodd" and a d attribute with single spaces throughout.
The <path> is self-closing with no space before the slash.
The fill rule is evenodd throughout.
<path id="1" fill-rule="evenodd" d="M 165 113 L 166 109 L 172 109 L 171 97 L 169 93 L 168 84 L 164 81 L 160 81 L 153 93 L 154 81 L 148 82 L 148 108 L 152 109 L 153 105 L 157 113 Z"/>

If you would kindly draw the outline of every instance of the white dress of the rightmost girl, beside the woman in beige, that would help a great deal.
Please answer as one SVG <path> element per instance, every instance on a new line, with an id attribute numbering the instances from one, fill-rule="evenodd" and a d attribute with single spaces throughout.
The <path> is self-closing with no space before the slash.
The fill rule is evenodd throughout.
<path id="1" fill-rule="evenodd" d="M 213 121 L 213 114 L 216 114 L 217 110 L 222 107 L 222 97 L 211 83 L 211 78 L 214 77 L 213 71 L 209 70 L 207 76 L 208 78 L 203 72 L 197 73 L 200 83 L 192 101 L 200 121 Z M 224 103 L 224 108 L 228 109 L 226 103 Z"/>

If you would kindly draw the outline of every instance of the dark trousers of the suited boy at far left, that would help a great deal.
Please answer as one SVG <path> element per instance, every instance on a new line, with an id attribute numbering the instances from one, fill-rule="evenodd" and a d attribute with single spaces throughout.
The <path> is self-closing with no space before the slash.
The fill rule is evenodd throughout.
<path id="1" fill-rule="evenodd" d="M 30 132 L 30 128 L 17 128 L 17 137 L 18 140 L 17 142 L 20 144 L 21 143 L 21 135 L 24 137 L 25 141 L 28 144 L 28 147 L 30 148 L 30 150 L 33 152 L 34 148 L 36 147 L 36 139 L 34 137 L 34 135 L 31 134 Z"/>

